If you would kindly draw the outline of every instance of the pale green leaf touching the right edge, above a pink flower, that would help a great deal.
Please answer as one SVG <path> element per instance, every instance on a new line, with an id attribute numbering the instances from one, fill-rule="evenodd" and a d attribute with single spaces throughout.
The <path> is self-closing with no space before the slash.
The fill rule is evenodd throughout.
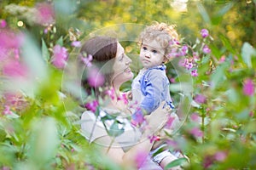
<path id="1" fill-rule="evenodd" d="M 252 68 L 252 56 L 256 55 L 256 50 L 248 42 L 244 42 L 241 47 L 241 58 L 249 68 Z"/>

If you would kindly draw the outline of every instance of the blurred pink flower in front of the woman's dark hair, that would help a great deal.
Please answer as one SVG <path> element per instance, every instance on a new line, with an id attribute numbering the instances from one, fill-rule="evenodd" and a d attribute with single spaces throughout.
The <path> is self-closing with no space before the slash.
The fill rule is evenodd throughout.
<path id="1" fill-rule="evenodd" d="M 88 83 L 90 87 L 100 87 L 103 85 L 105 78 L 96 67 L 90 67 L 87 72 Z"/>

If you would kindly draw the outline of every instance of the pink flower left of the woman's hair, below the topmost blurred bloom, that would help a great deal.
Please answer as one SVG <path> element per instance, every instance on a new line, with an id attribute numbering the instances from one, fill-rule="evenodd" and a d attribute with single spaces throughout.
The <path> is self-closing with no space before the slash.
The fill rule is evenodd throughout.
<path id="1" fill-rule="evenodd" d="M 60 45 L 55 45 L 53 48 L 53 57 L 52 64 L 55 65 L 56 68 L 62 69 L 67 64 L 67 48 L 61 47 Z"/>

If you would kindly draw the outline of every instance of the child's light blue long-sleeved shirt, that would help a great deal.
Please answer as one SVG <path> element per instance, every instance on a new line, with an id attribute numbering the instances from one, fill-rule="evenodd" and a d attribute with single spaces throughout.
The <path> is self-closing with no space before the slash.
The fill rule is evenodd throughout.
<path id="1" fill-rule="evenodd" d="M 150 114 L 158 108 L 162 101 L 166 101 L 174 109 L 171 95 L 169 93 L 170 82 L 166 77 L 166 65 L 157 65 L 144 71 L 139 80 L 143 100 L 141 107 Z"/>

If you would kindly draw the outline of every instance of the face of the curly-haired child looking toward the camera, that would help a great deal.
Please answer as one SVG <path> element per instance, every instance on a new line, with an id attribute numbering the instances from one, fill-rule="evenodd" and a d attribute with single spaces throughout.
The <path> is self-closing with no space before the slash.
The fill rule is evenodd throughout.
<path id="1" fill-rule="evenodd" d="M 150 68 L 156 65 L 161 65 L 166 61 L 164 56 L 165 49 L 160 46 L 159 42 L 144 41 L 140 51 L 140 60 L 144 68 Z"/>

